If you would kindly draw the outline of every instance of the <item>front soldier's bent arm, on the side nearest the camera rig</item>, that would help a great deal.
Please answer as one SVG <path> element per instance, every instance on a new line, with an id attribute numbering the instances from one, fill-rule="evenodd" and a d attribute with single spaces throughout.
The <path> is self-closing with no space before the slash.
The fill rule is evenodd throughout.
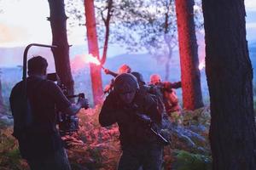
<path id="1" fill-rule="evenodd" d="M 108 127 L 117 122 L 118 111 L 114 109 L 113 94 L 109 94 L 105 99 L 99 115 L 99 122 L 102 127 Z"/>

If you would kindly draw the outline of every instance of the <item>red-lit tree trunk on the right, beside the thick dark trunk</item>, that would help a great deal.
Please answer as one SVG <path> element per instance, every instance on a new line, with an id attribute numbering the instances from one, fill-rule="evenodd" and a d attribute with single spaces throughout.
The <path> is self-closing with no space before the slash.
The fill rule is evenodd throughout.
<path id="1" fill-rule="evenodd" d="M 192 111 L 203 106 L 193 5 L 193 0 L 176 0 L 183 107 Z"/>

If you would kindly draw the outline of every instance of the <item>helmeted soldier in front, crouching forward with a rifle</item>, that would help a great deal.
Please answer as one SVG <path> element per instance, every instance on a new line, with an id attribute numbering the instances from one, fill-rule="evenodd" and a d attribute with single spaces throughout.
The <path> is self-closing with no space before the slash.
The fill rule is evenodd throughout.
<path id="1" fill-rule="evenodd" d="M 122 156 L 119 170 L 160 170 L 162 164 L 163 144 L 152 131 L 149 124 L 157 127 L 162 121 L 153 95 L 141 91 L 137 78 L 129 73 L 115 78 L 113 91 L 102 105 L 99 122 L 108 127 L 117 122 Z"/>

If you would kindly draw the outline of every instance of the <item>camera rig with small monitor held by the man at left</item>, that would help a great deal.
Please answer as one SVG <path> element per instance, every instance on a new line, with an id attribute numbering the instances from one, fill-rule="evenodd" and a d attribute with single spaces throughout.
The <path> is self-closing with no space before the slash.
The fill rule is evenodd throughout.
<path id="1" fill-rule="evenodd" d="M 66 95 L 67 99 L 73 99 L 73 98 L 84 98 L 84 94 L 74 94 L 74 95 L 68 95 L 67 94 L 67 87 L 64 86 L 64 84 L 61 83 L 60 78 L 56 73 L 49 73 L 47 75 L 47 79 L 53 82 L 56 82 L 57 85 L 61 88 L 63 94 Z M 87 109 L 87 108 L 84 108 Z M 76 115 L 69 115 L 65 114 L 61 111 L 55 110 L 57 115 L 57 124 L 59 127 L 59 132 L 61 136 L 65 136 L 66 134 L 71 134 L 74 132 L 77 132 L 79 130 L 79 117 Z"/>

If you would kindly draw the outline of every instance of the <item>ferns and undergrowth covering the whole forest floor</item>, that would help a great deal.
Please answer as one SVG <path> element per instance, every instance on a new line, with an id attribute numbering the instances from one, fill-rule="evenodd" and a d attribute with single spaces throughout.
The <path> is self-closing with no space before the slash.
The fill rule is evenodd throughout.
<path id="1" fill-rule="evenodd" d="M 101 105 L 79 112 L 79 131 L 67 149 L 73 170 L 114 170 L 121 154 L 117 125 L 101 127 L 98 114 Z M 3 116 L 2 116 L 3 117 Z M 0 119 L 0 169 L 28 170 L 21 159 L 18 144 L 11 135 L 13 122 L 6 116 Z M 210 111 L 203 107 L 172 115 L 172 143 L 165 146 L 163 170 L 210 170 L 211 151 L 208 142 Z M 39 146 L 38 146 L 39 147 Z"/>

